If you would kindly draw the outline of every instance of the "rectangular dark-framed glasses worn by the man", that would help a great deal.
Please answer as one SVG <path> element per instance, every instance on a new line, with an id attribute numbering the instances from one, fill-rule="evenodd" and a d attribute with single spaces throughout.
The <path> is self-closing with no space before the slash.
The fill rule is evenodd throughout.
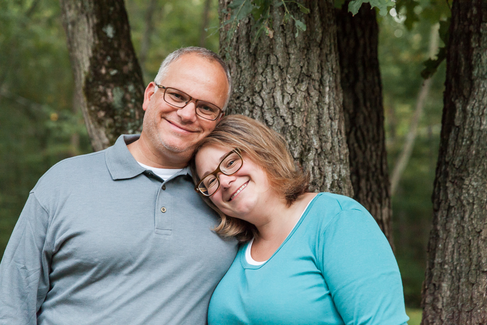
<path id="1" fill-rule="evenodd" d="M 164 101 L 169 105 L 183 108 L 190 102 L 194 102 L 196 115 L 211 121 L 216 120 L 222 114 L 222 110 L 218 108 L 218 106 L 212 103 L 194 99 L 184 91 L 175 88 L 164 87 L 158 84 L 156 84 L 156 86 L 164 89 L 163 98 Z"/>

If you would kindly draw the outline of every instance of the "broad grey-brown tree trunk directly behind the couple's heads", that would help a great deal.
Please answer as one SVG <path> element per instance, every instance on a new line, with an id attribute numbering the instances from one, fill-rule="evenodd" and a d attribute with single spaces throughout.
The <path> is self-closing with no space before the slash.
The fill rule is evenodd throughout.
<path id="1" fill-rule="evenodd" d="M 228 3 L 219 0 L 222 22 L 228 19 L 222 14 Z M 234 80 L 228 111 L 256 118 L 282 134 L 296 164 L 311 173 L 318 189 L 353 196 L 333 1 L 301 3 L 311 12 L 293 8 L 307 26 L 299 37 L 292 20 L 283 23 L 284 6 L 270 8 L 271 38 L 255 40 L 252 18 L 240 22 L 230 44 L 225 43 L 227 30 L 220 33 L 220 48 L 230 46 Z"/>

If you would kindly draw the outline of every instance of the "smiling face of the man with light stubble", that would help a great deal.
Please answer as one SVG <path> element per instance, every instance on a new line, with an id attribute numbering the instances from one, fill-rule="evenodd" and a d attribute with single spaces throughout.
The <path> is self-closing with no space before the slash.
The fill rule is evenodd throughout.
<path id="1" fill-rule="evenodd" d="M 218 62 L 195 54 L 185 54 L 172 62 L 160 85 L 179 89 L 219 108 L 223 108 L 227 100 L 228 81 L 223 68 Z M 154 82 L 147 86 L 143 136 L 159 152 L 191 155 L 196 143 L 213 131 L 218 120 L 210 121 L 196 115 L 194 102 L 183 108 L 171 106 L 163 95 L 164 89 L 157 88 Z"/>

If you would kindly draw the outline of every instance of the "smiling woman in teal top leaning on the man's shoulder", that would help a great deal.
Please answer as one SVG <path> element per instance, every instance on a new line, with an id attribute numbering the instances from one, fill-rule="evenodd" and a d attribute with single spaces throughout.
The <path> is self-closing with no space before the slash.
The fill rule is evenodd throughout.
<path id="1" fill-rule="evenodd" d="M 387 324 L 408 320 L 391 247 L 354 200 L 308 191 L 284 138 L 241 115 L 196 148 L 196 187 L 242 244 L 208 323 Z"/>

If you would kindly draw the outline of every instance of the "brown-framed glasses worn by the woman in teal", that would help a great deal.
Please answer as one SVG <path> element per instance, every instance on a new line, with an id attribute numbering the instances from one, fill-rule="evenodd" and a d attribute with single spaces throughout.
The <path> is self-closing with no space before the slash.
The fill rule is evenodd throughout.
<path id="1" fill-rule="evenodd" d="M 211 197 L 220 187 L 218 173 L 224 175 L 235 174 L 243 165 L 240 149 L 235 148 L 223 158 L 217 169 L 203 177 L 194 187 L 195 191 L 200 192 L 205 197 Z"/>

